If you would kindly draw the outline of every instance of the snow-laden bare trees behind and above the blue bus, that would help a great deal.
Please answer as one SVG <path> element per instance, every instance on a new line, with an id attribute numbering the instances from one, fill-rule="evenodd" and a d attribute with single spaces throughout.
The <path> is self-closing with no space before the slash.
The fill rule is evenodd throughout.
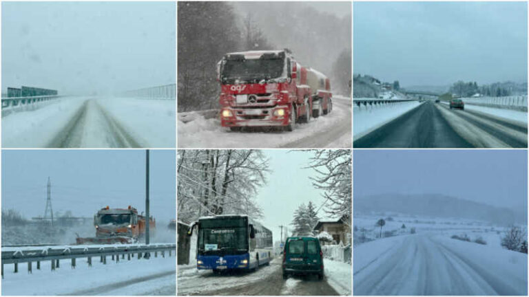
<path id="1" fill-rule="evenodd" d="M 262 216 L 255 203 L 266 184 L 268 159 L 259 150 L 178 151 L 178 217 L 203 215 Z"/>

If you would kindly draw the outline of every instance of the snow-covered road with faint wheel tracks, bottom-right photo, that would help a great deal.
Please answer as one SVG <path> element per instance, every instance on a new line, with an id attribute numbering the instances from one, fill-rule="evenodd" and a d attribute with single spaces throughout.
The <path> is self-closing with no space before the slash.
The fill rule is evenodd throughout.
<path id="1" fill-rule="evenodd" d="M 355 295 L 527 295 L 527 254 L 434 234 L 354 250 Z"/>

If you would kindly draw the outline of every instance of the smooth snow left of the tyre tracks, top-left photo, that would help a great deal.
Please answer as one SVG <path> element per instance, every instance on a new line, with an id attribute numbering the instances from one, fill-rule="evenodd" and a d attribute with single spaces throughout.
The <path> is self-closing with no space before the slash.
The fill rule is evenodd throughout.
<path id="1" fill-rule="evenodd" d="M 89 97 L 63 97 L 40 109 L 2 117 L 2 147 L 43 148 L 64 129 Z"/>

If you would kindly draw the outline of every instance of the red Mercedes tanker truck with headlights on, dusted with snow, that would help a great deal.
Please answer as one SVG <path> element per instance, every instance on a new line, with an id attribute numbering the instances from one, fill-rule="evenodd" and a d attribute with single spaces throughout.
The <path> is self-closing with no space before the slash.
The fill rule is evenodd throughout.
<path id="1" fill-rule="evenodd" d="M 331 83 L 304 67 L 289 50 L 234 52 L 218 63 L 220 123 L 232 131 L 244 126 L 282 126 L 332 110 Z"/>

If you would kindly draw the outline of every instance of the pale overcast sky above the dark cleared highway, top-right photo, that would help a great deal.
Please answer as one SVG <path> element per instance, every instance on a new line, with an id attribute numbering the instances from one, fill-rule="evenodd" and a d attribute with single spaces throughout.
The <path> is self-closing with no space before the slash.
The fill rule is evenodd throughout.
<path id="1" fill-rule="evenodd" d="M 401 86 L 527 81 L 527 2 L 355 2 L 353 71 Z"/>

